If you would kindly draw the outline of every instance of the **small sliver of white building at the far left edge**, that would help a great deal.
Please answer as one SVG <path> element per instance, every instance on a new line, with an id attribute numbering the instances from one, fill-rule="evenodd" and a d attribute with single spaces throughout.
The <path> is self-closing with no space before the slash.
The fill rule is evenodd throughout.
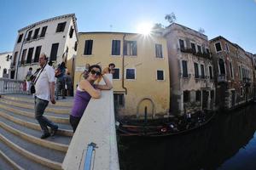
<path id="1" fill-rule="evenodd" d="M 9 78 L 12 52 L 0 53 L 0 78 Z"/>

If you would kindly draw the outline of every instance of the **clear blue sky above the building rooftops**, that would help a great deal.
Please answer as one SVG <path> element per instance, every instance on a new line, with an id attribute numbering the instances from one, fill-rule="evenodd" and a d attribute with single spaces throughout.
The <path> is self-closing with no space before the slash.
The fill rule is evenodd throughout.
<path id="1" fill-rule="evenodd" d="M 142 22 L 177 23 L 209 39 L 223 36 L 256 54 L 256 0 L 1 0 L 0 53 L 12 51 L 17 31 L 39 20 L 75 13 L 79 31 L 136 32 Z"/>

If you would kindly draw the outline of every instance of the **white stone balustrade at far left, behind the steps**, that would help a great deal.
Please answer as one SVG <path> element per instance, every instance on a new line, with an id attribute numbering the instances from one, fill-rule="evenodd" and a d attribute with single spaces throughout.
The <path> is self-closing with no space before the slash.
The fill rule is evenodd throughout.
<path id="1" fill-rule="evenodd" d="M 0 78 L 0 94 L 26 94 L 24 86 L 23 81 Z"/>

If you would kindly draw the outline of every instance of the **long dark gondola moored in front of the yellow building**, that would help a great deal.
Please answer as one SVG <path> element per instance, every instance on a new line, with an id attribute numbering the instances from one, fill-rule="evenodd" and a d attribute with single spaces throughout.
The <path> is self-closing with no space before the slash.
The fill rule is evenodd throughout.
<path id="1" fill-rule="evenodd" d="M 197 111 L 194 114 L 184 114 L 153 121 L 118 121 L 116 123 L 119 136 L 161 137 L 187 133 L 206 125 L 215 115 L 214 111 Z"/>

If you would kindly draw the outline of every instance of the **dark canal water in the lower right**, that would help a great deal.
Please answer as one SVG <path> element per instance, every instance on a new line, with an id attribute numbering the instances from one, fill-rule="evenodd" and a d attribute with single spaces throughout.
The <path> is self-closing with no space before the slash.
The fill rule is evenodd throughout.
<path id="1" fill-rule="evenodd" d="M 256 104 L 169 137 L 119 137 L 121 170 L 255 170 Z"/>

